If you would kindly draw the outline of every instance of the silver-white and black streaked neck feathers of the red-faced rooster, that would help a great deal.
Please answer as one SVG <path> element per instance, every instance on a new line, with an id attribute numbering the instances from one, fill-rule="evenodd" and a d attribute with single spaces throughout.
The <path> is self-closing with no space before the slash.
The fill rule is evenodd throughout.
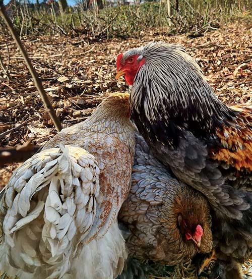
<path id="1" fill-rule="evenodd" d="M 139 55 L 146 62 L 134 80 L 131 114 L 147 138 L 176 145 L 183 131 L 211 137 L 216 126 L 235 116 L 218 100 L 199 65 L 181 47 L 152 43 L 139 48 Z"/>

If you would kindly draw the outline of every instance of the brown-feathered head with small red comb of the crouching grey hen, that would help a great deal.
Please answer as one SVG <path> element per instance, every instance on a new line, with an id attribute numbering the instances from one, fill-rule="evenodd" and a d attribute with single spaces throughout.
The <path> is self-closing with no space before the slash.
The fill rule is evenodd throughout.
<path id="1" fill-rule="evenodd" d="M 208 201 L 201 193 L 179 183 L 167 194 L 165 209 L 169 229 L 179 236 L 185 249 L 194 246 L 195 251 L 202 253 L 212 250 L 211 214 Z"/>

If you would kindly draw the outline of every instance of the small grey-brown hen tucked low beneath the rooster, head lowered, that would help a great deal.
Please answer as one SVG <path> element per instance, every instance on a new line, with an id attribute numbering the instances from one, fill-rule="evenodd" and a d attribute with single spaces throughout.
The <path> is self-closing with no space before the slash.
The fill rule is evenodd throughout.
<path id="1" fill-rule="evenodd" d="M 132 258 L 175 265 L 193 258 L 197 251 L 212 251 L 207 200 L 198 191 L 172 178 L 139 134 L 136 134 L 132 187 L 118 220 L 122 223 L 119 227 L 123 235 L 127 236 Z M 132 273 L 132 266 L 134 262 L 124 273 Z M 140 267 L 135 270 L 141 270 Z"/>

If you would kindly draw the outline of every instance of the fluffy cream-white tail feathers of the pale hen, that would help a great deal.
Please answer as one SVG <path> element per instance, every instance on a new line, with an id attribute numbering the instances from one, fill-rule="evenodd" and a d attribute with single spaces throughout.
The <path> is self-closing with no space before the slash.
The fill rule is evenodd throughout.
<path id="1" fill-rule="evenodd" d="M 33 155 L 14 172 L 0 203 L 7 269 L 64 274 L 78 244 L 89 241 L 101 200 L 99 168 L 86 150 L 60 146 Z"/>

